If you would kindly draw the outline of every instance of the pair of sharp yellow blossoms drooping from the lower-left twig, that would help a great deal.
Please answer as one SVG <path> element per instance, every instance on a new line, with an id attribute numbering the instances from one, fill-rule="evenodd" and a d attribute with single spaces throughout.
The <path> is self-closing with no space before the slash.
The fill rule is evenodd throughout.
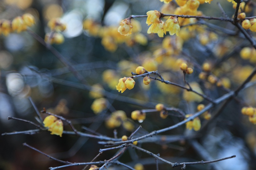
<path id="1" fill-rule="evenodd" d="M 53 115 L 49 115 L 44 119 L 43 123 L 44 126 L 48 128 L 48 131 L 51 132 L 51 135 L 59 135 L 62 137 L 63 123 L 61 119 L 58 119 Z"/>

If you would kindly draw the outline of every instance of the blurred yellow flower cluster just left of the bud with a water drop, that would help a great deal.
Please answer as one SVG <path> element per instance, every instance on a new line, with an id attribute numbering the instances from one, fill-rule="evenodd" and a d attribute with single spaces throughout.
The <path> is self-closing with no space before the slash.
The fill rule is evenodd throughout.
<path id="1" fill-rule="evenodd" d="M 117 128 L 122 125 L 128 131 L 134 129 L 132 121 L 127 118 L 126 113 L 122 110 L 111 113 L 105 123 L 108 128 Z"/>

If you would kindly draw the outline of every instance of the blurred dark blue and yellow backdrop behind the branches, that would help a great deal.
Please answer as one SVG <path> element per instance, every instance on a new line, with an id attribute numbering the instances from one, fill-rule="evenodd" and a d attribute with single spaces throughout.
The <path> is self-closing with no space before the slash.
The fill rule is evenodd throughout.
<path id="1" fill-rule="evenodd" d="M 174 8 L 177 7 L 175 3 L 167 6 L 159 0 L 1 0 L 0 2 L 0 19 L 11 21 L 24 13 L 31 13 L 35 17 L 35 25 L 29 30 L 43 39 L 45 34 L 51 32 L 47 23 L 53 18 L 60 18 L 67 27 L 61 32 L 65 41 L 52 46 L 81 73 L 85 82 L 83 85 L 68 67 L 31 33 L 24 31 L 11 32 L 8 36 L 1 35 L 1 134 L 35 128 L 28 123 L 7 120 L 8 116 L 12 116 L 37 123 L 35 118 L 37 114 L 28 99 L 31 96 L 39 111 L 46 108 L 49 112 L 71 120 L 79 131 L 84 131 L 81 127 L 85 126 L 109 137 L 114 137 L 114 128 L 109 127 L 107 120 L 115 110 L 123 110 L 129 118 L 130 128 L 125 125 L 115 127 L 117 136 L 119 138 L 123 135 L 129 136 L 139 125 L 143 129 L 137 136 L 141 136 L 178 123 L 182 118 L 168 116 L 166 119 L 161 119 L 155 112 L 148 113 L 147 118 L 139 123 L 130 119 L 132 111 L 155 108 L 157 103 L 163 103 L 168 107 L 180 108 L 184 113 L 189 114 L 197 111 L 196 107 L 199 103 L 206 105 L 208 102 L 189 101 L 183 97 L 182 89 L 153 80 L 146 87 L 142 83 L 142 78 L 135 79 L 136 85 L 131 91 L 118 93 L 115 85 L 119 78 L 131 76 L 131 71 L 135 72 L 138 66 L 143 66 L 148 71 L 158 70 L 166 80 L 183 85 L 183 74 L 175 65 L 179 58 L 183 58 L 194 69 L 194 73 L 189 75 L 187 80 L 197 82 L 195 87 L 200 86 L 203 93 L 213 99 L 221 97 L 227 91 L 209 82 L 202 82 L 198 78 L 203 63 L 209 62 L 212 65 L 217 63 L 213 73 L 219 78 L 224 78 L 224 81 L 228 78 L 228 88 L 231 90 L 238 87 L 255 67 L 255 61 L 243 60 L 239 55 L 243 47 L 250 45 L 249 42 L 240 34 L 236 34 L 237 30 L 227 22 L 206 21 L 217 28 L 230 30 L 235 36 L 221 32 L 211 25 L 202 28 L 206 31 L 184 29 L 180 32 L 180 37 L 170 38 L 166 35 L 165 40 L 172 41 L 173 44 L 174 52 L 171 55 L 159 51 L 164 38 L 147 34 L 145 17 L 137 19 L 141 24 L 141 32 L 135 34 L 132 39 L 113 44 L 108 39 L 107 35 L 112 36 L 111 29 L 117 30 L 120 21 L 126 17 L 145 15 L 149 10 L 174 12 Z M 220 2 L 226 14 L 232 17 L 234 13 L 232 3 L 225 0 L 213 0 L 211 4 L 202 4 L 198 10 L 206 16 L 221 17 L 221 10 L 216 2 Z M 248 12 L 248 15 L 255 16 L 254 11 Z M 87 21 L 87 24 L 84 24 L 84 21 Z M 205 37 L 212 39 L 204 43 Z M 104 90 L 105 93 L 102 94 L 99 90 Z M 248 88 L 241 92 L 238 98 L 250 106 L 256 106 L 255 92 L 255 87 Z M 91 105 L 95 98 L 99 97 L 106 98 L 109 104 L 106 109 L 95 114 Z M 247 116 L 241 114 L 240 110 L 243 106 L 243 102 L 232 100 L 221 111 L 220 116 L 197 133 L 198 136 L 195 138 L 213 159 L 237 156 L 217 163 L 217 167 L 223 170 L 256 169 L 255 125 L 249 122 Z M 215 113 L 216 108 L 210 112 Z M 46 115 L 42 116 L 44 118 Z M 64 130 L 71 129 L 64 124 Z M 161 135 L 187 134 L 195 133 L 181 126 Z M 104 148 L 96 139 L 70 135 L 63 135 L 60 138 L 49 132 L 0 136 L 0 142 L 0 169 L 3 170 L 40 170 L 62 165 L 22 146 L 24 142 L 44 153 L 70 162 L 89 162 L 99 153 L 100 148 Z M 139 143 L 139 146 L 155 154 L 160 153 L 161 157 L 171 162 L 206 161 L 206 158 L 195 149 L 195 144 L 184 138 L 172 143 L 149 140 Z M 105 152 L 97 160 L 109 159 L 116 152 L 117 150 Z M 142 163 L 145 169 L 155 167 L 154 158 L 134 149 L 129 149 L 119 160 L 132 167 L 138 162 Z M 159 169 L 170 168 L 160 161 L 158 163 Z M 108 169 L 111 168 L 125 169 L 120 166 Z M 218 169 L 212 165 L 194 165 L 187 168 Z M 83 169 L 83 167 L 63 169 Z"/>

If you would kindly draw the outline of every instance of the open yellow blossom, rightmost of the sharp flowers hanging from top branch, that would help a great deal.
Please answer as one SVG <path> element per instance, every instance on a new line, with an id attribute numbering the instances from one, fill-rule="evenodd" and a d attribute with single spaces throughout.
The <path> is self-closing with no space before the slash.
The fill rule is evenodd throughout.
<path id="1" fill-rule="evenodd" d="M 176 17 L 169 17 L 168 20 L 165 21 L 165 30 L 169 31 L 170 35 L 174 35 L 176 34 L 177 36 L 179 36 L 179 20 Z"/>

